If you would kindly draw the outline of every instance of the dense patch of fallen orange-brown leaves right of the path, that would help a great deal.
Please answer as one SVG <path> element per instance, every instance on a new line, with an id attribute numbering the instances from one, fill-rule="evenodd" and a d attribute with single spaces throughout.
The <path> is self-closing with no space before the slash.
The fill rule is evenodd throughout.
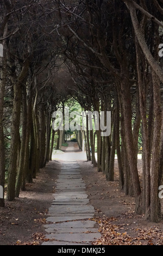
<path id="1" fill-rule="evenodd" d="M 158 227 L 149 228 L 134 228 L 135 236 L 132 237 L 127 234 L 127 231 L 122 232 L 125 229 L 125 225 L 117 225 L 115 217 L 102 217 L 93 218 L 99 225 L 98 231 L 101 233 L 101 238 L 92 242 L 92 245 L 162 245 L 163 232 Z"/>

